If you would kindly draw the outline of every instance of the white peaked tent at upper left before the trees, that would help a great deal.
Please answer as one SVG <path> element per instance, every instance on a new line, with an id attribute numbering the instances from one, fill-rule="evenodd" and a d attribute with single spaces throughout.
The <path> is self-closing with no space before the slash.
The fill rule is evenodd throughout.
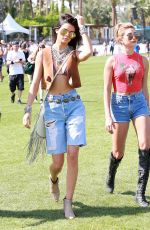
<path id="1" fill-rule="evenodd" d="M 10 14 L 0 24 L 0 31 L 4 31 L 6 35 L 11 33 L 25 33 L 29 34 L 29 30 L 20 26 Z"/>

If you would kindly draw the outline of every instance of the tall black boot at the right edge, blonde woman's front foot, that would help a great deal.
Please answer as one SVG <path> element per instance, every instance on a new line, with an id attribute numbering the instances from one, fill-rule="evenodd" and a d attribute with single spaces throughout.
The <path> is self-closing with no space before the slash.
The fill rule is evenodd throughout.
<path id="1" fill-rule="evenodd" d="M 136 202 L 141 207 L 147 207 L 149 202 L 145 198 L 145 190 L 149 177 L 150 150 L 139 149 L 138 184 Z"/>

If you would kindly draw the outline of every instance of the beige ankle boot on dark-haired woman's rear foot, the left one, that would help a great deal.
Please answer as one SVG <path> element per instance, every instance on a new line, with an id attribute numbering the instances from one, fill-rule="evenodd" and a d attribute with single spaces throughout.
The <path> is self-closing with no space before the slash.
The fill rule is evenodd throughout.
<path id="1" fill-rule="evenodd" d="M 50 181 L 50 193 L 53 196 L 53 199 L 58 202 L 59 201 L 59 196 L 60 196 L 60 191 L 59 191 L 59 179 L 57 177 L 56 181 L 53 181 L 52 178 L 49 178 Z"/>

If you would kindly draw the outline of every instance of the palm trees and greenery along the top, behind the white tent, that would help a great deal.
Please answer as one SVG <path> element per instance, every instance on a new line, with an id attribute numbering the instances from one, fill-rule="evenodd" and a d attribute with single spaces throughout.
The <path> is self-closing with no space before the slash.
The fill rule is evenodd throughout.
<path id="1" fill-rule="evenodd" d="M 26 27 L 52 27 L 63 12 L 80 13 L 92 24 L 114 26 L 119 21 L 132 21 L 150 25 L 149 0 L 1 0 L 0 22 L 8 12 Z"/>

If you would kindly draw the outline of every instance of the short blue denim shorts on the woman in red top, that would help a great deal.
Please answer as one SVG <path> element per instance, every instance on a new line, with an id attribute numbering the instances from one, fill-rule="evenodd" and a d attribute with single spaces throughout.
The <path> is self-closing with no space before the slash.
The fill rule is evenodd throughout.
<path id="1" fill-rule="evenodd" d="M 149 116 L 150 111 L 143 92 L 130 95 L 112 93 L 111 116 L 114 122 L 129 122 L 139 116 Z"/>

